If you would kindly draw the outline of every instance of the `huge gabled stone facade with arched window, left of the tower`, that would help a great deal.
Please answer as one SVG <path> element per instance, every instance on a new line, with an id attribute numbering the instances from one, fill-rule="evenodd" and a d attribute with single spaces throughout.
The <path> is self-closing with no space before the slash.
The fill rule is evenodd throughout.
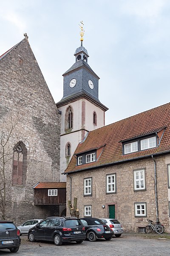
<path id="1" fill-rule="evenodd" d="M 1 138 L 8 136 L 17 118 L 6 149 L 9 156 L 5 165 L 6 218 L 22 222 L 57 215 L 58 206 L 53 209 L 34 206 L 33 187 L 37 182 L 59 182 L 60 114 L 27 36 L 0 56 Z M 21 164 L 24 179 L 20 177 L 23 179 L 20 185 L 13 182 L 14 151 L 18 143 L 25 148 Z M 0 185 L 2 188 L 1 182 Z"/>

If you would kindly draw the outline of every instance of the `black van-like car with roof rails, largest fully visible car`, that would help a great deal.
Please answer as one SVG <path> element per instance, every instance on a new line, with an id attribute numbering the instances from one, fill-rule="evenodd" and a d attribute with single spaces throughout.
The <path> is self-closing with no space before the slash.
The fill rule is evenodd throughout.
<path id="1" fill-rule="evenodd" d="M 72 241 L 81 244 L 85 240 L 85 227 L 79 219 L 51 217 L 32 227 L 28 232 L 28 239 L 30 242 L 54 241 L 55 245 Z"/>

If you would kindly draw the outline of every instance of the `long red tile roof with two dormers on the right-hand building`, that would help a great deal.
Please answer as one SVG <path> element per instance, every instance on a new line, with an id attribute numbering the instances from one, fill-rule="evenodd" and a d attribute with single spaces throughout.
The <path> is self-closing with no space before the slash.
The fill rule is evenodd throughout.
<path id="1" fill-rule="evenodd" d="M 158 147 L 122 155 L 121 141 L 159 132 L 161 129 L 165 131 Z M 89 132 L 85 141 L 77 146 L 75 155 L 103 145 L 105 147 L 96 162 L 76 166 L 76 158 L 73 156 L 65 173 L 170 152 L 170 103 Z"/>

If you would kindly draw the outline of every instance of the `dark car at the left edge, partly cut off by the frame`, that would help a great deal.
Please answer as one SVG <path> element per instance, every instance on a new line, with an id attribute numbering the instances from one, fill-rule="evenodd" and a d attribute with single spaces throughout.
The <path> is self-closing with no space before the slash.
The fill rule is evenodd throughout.
<path id="1" fill-rule="evenodd" d="M 12 221 L 0 220 L 0 249 L 9 249 L 16 253 L 21 244 L 19 230 Z"/>

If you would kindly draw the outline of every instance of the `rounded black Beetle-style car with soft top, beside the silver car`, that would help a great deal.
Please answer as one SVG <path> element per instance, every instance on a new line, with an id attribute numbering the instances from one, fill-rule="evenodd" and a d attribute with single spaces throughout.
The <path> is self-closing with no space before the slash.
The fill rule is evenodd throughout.
<path id="1" fill-rule="evenodd" d="M 86 239 L 91 242 L 96 241 L 97 238 L 105 238 L 111 240 L 113 231 L 103 221 L 97 218 L 80 218 L 82 224 L 85 226 Z"/>

